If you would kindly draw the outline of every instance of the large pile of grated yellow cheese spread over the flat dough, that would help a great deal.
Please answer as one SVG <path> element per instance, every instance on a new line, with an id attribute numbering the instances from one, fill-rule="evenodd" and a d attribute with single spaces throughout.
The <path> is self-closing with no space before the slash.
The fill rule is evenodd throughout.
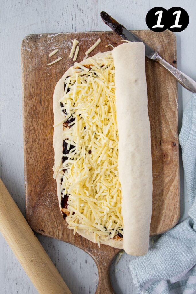
<path id="1" fill-rule="evenodd" d="M 68 228 L 93 233 L 99 245 L 101 240 L 123 236 L 122 196 L 113 58 L 108 53 L 90 64 L 87 69 L 75 62 L 83 71 L 65 80 L 69 91 L 65 89 L 61 109 L 65 107 L 66 118 L 71 116 L 74 122 L 62 133 L 73 148 L 54 168 L 53 177 L 60 173 L 62 196 L 68 195 Z"/>

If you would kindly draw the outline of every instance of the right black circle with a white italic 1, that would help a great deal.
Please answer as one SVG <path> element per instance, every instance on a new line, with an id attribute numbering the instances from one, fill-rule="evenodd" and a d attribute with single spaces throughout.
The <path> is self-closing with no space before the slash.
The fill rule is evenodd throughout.
<path id="1" fill-rule="evenodd" d="M 186 29 L 189 16 L 181 7 L 172 7 L 167 10 L 167 29 L 172 32 L 181 32 Z"/>

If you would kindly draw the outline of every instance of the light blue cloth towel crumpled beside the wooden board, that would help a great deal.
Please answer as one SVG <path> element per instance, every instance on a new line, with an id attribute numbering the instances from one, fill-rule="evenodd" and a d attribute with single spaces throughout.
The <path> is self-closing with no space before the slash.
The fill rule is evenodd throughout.
<path id="1" fill-rule="evenodd" d="M 189 217 L 164 233 L 130 264 L 142 294 L 196 293 L 196 94 L 185 106 L 179 135 L 190 203 Z"/>

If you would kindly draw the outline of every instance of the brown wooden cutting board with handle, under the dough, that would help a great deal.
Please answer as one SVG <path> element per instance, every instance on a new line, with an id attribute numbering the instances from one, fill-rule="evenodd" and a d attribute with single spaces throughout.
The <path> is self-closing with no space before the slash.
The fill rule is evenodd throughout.
<path id="1" fill-rule="evenodd" d="M 172 32 L 143 30 L 133 33 L 170 64 L 177 65 L 176 40 Z M 89 253 L 98 266 L 96 293 L 114 293 L 110 283 L 110 263 L 119 250 L 107 245 L 101 245 L 99 249 L 98 245 L 77 233 L 74 236 L 73 231 L 66 228 L 58 206 L 56 181 L 52 178 L 53 90 L 64 72 L 73 65 L 68 56 L 74 38 L 80 45 L 77 61 L 83 59 L 84 52 L 98 38 L 102 41 L 89 56 L 111 50 L 111 47 L 105 47 L 107 44 L 122 44 L 121 38 L 113 32 L 35 34 L 22 41 L 26 218 L 36 232 L 66 241 Z M 59 49 L 58 53 L 49 57 L 54 49 Z M 47 66 L 60 56 L 62 60 Z M 177 83 L 160 64 L 146 59 L 145 65 L 153 166 L 150 235 L 157 235 L 172 228 L 180 216 Z"/>

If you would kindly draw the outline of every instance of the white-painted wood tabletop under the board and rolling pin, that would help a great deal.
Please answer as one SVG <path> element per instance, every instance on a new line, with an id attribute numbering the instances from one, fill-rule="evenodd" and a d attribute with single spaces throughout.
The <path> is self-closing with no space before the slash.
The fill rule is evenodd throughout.
<path id="1" fill-rule="evenodd" d="M 188 27 L 177 37 L 178 69 L 196 80 L 194 0 L 1 0 L 0 10 L 0 177 L 25 214 L 24 160 L 22 133 L 20 46 L 28 34 L 71 31 L 104 31 L 100 18 L 104 10 L 128 29 L 148 29 L 145 16 L 149 9 L 163 6 L 184 8 L 190 18 Z M 179 129 L 182 110 L 191 93 L 178 85 Z M 187 215 L 188 201 L 180 167 L 181 220 Z M 42 235 L 38 239 L 56 265 L 73 294 L 95 293 L 98 271 L 91 257 L 73 245 Z M 118 294 L 137 293 L 130 276 L 131 257 L 124 254 L 111 267 L 111 281 Z M 0 294 L 35 294 L 36 289 L 0 234 Z M 58 294 L 58 293 L 57 293 Z M 104 293 L 103 293 L 104 294 Z"/>

